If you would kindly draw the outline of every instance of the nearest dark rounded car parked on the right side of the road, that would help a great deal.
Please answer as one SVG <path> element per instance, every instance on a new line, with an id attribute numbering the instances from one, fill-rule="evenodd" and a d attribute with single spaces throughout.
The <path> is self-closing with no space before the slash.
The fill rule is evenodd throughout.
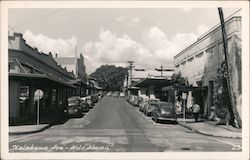
<path id="1" fill-rule="evenodd" d="M 170 102 L 158 102 L 151 116 L 156 123 L 159 120 L 177 122 L 174 105 Z"/>

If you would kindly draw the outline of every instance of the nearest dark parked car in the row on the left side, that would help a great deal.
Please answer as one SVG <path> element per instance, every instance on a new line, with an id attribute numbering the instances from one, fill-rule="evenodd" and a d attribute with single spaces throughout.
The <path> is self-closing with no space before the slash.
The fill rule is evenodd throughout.
<path id="1" fill-rule="evenodd" d="M 69 116 L 82 116 L 83 108 L 80 97 L 68 98 L 68 108 L 65 110 Z"/>

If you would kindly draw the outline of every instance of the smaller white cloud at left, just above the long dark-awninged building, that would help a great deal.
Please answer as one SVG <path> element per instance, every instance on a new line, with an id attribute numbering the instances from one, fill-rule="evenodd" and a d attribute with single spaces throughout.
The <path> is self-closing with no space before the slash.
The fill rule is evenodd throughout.
<path id="1" fill-rule="evenodd" d="M 41 52 L 57 53 L 61 57 L 71 57 L 75 55 L 75 46 L 77 44 L 77 38 L 75 36 L 70 39 L 53 39 L 43 34 L 34 35 L 31 31 L 26 30 L 23 37 L 30 46 L 36 47 Z"/>

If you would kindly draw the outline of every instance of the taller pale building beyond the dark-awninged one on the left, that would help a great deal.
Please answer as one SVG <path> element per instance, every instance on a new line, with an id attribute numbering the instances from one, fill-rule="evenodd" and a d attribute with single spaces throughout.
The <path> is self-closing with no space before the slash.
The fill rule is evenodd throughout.
<path id="1" fill-rule="evenodd" d="M 57 54 L 54 57 L 55 61 L 63 68 L 72 72 L 76 80 L 71 83 L 77 87 L 76 95 L 84 97 L 87 90 L 87 74 L 84 65 L 84 57 L 80 54 L 80 57 L 58 57 Z"/>

